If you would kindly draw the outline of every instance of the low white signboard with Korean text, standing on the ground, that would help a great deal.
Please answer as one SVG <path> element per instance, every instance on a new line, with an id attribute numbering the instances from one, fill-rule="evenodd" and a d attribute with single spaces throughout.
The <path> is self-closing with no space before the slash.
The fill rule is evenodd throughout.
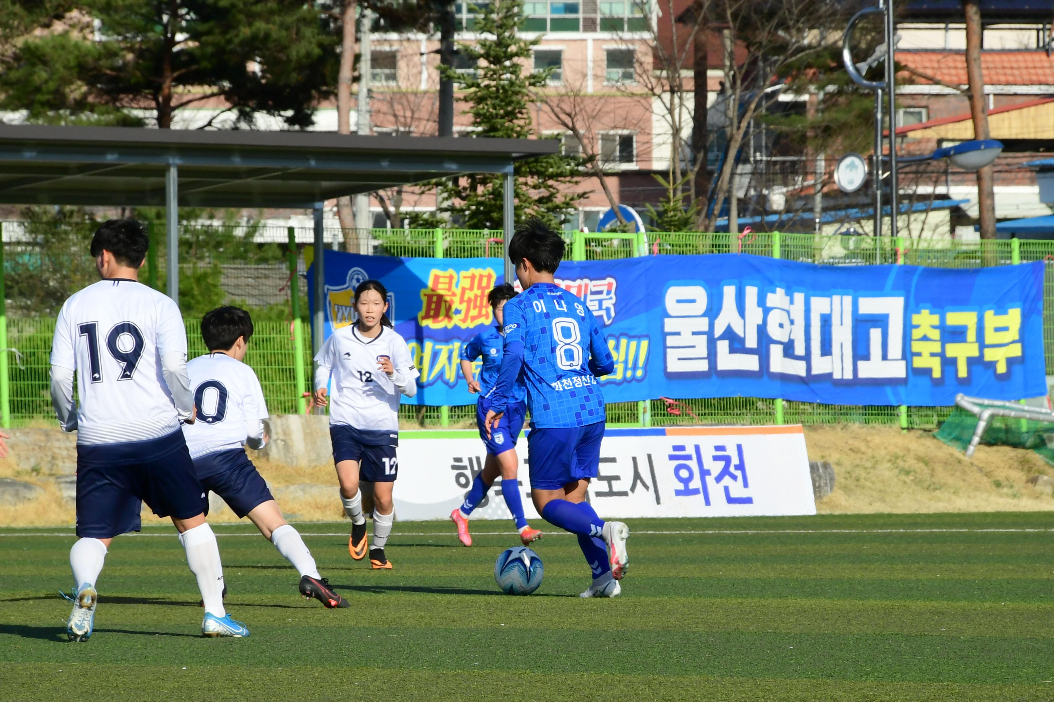
<path id="1" fill-rule="evenodd" d="M 412 437 L 405 432 L 399 439 L 395 514 L 399 520 L 448 519 L 483 469 L 486 448 L 479 438 Z M 526 443 L 521 439 L 516 452 L 515 489 L 523 494 L 527 518 L 539 520 Z M 472 519 L 511 520 L 503 489 L 497 480 Z M 605 518 L 816 514 L 800 425 L 608 428 L 589 501 Z"/>

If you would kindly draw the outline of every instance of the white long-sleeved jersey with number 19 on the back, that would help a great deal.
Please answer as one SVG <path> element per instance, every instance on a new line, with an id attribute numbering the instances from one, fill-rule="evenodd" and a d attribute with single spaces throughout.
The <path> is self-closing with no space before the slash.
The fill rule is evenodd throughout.
<path id="1" fill-rule="evenodd" d="M 165 380 L 173 372 L 186 378 L 179 307 L 134 280 L 100 280 L 66 300 L 51 362 L 77 373 L 78 444 L 156 439 L 190 419 L 189 403 L 177 412 Z"/>

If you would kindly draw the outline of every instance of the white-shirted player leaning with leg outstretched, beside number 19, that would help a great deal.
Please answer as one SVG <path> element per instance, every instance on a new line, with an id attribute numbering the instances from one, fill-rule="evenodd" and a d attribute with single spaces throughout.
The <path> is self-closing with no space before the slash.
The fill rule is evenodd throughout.
<path id="1" fill-rule="evenodd" d="M 267 403 L 253 369 L 242 363 L 253 320 L 239 307 L 217 307 L 201 318 L 207 356 L 187 364 L 197 421 L 183 425 L 187 447 L 201 487 L 223 499 L 238 519 L 249 519 L 300 574 L 299 590 L 329 608 L 351 605 L 318 575 L 304 539 L 281 516 L 267 483 L 246 455 L 246 445 L 267 444 Z M 209 501 L 202 501 L 206 515 Z"/>

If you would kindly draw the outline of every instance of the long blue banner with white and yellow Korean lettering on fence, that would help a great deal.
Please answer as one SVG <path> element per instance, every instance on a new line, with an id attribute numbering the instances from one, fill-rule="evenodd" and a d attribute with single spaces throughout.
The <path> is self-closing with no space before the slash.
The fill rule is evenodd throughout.
<path id="1" fill-rule="evenodd" d="M 472 404 L 458 354 L 493 324 L 500 259 L 326 252 L 326 335 L 367 278 L 390 292 L 421 368 L 413 404 Z M 309 275 L 309 289 L 313 289 Z M 831 266 L 764 257 L 564 262 L 557 282 L 597 316 L 616 358 L 608 402 L 759 397 L 951 405 L 958 393 L 1047 395 L 1042 262 L 990 268 Z M 313 295 L 310 297 L 313 300 Z"/>

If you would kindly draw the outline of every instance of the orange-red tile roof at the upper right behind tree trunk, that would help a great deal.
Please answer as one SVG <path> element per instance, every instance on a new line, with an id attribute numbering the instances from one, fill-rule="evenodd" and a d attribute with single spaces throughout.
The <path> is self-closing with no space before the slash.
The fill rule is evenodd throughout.
<path id="1" fill-rule="evenodd" d="M 897 63 L 953 85 L 965 85 L 964 52 L 897 52 Z M 1054 57 L 1047 52 L 982 52 L 981 73 L 987 85 L 1054 85 Z M 931 81 L 901 72 L 898 80 Z"/>

